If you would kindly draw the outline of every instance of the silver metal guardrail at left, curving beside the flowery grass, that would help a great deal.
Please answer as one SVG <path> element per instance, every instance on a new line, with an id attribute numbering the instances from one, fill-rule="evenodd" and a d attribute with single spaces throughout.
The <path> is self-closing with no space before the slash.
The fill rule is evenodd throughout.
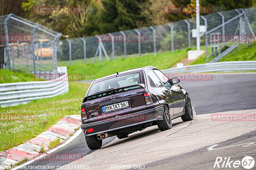
<path id="1" fill-rule="evenodd" d="M 16 106 L 31 100 L 62 95 L 68 92 L 68 74 L 49 81 L 0 84 L 0 106 Z"/>

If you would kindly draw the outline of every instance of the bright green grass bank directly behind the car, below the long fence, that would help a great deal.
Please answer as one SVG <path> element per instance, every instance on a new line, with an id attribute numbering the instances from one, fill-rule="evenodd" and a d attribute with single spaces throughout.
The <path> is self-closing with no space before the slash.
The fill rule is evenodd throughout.
<path id="1" fill-rule="evenodd" d="M 132 68 L 155 66 L 159 69 L 170 68 L 180 62 L 181 59 L 188 57 L 188 50 L 181 49 L 174 52 L 143 54 L 141 57 L 134 55 L 128 58 L 117 58 L 115 60 L 96 62 L 94 64 L 84 64 L 84 60 L 73 60 L 72 65 L 69 61 L 58 61 L 58 66 L 67 66 L 68 74 L 82 74 L 83 80 L 92 80 L 116 72 L 129 70 Z"/>

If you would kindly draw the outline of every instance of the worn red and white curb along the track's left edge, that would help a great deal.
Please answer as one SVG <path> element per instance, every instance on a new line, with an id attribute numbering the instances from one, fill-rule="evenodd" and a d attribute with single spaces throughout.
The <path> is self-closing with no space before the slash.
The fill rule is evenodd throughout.
<path id="1" fill-rule="evenodd" d="M 58 138 L 60 138 L 60 142 L 64 141 L 63 139 L 66 140 L 69 137 L 69 134 L 72 134 L 75 129 L 80 128 L 80 125 L 80 114 L 65 116 L 48 130 L 39 134 L 36 138 L 1 152 L 0 170 L 11 167 L 11 165 L 18 163 L 25 158 L 31 159 L 38 156 L 42 146 L 44 147 L 44 151 L 48 150 L 51 141 Z"/>

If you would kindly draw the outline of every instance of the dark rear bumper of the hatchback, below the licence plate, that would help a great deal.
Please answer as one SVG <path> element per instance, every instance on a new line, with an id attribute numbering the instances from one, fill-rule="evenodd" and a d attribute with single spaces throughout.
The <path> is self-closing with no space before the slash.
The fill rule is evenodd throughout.
<path id="1" fill-rule="evenodd" d="M 140 110 L 131 115 L 120 116 L 114 120 L 105 120 L 101 122 L 85 123 L 81 125 L 81 129 L 85 132 L 85 136 L 91 136 L 103 132 L 114 131 L 129 126 L 144 124 L 155 120 L 163 120 L 163 107 L 157 106 L 150 109 Z M 93 128 L 92 132 L 87 129 Z"/>

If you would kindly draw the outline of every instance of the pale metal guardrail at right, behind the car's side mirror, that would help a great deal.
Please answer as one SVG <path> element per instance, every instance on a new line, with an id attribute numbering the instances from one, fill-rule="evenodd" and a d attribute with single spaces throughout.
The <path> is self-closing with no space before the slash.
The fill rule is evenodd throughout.
<path id="1" fill-rule="evenodd" d="M 196 64 L 181 68 L 168 68 L 163 73 L 205 73 L 205 72 L 244 72 L 256 71 L 256 61 L 224 61 Z"/>

